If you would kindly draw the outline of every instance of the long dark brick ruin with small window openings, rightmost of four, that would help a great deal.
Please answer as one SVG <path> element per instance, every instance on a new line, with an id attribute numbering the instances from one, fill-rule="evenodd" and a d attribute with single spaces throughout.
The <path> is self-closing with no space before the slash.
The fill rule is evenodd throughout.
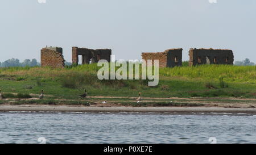
<path id="1" fill-rule="evenodd" d="M 229 49 L 189 49 L 189 66 L 200 64 L 229 64 L 233 65 L 233 51 Z"/>

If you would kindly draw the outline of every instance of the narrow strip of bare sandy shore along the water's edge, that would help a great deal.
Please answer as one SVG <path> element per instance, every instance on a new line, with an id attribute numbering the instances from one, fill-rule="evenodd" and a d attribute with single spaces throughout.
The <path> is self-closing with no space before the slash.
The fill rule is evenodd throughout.
<path id="1" fill-rule="evenodd" d="M 48 106 L 48 105 L 1 105 L 0 111 L 65 111 L 65 112 L 249 112 L 256 108 L 223 107 L 85 107 L 85 106 Z"/>

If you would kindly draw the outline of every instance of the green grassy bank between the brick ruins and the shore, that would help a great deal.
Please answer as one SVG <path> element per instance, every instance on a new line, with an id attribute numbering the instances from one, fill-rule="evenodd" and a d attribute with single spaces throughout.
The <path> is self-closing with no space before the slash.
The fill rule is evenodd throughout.
<path id="1" fill-rule="evenodd" d="M 39 95 L 42 89 L 47 99 L 80 99 L 84 89 L 89 96 L 137 97 L 142 92 L 142 97 L 256 98 L 256 66 L 189 67 L 185 62 L 182 67 L 160 68 L 159 85 L 154 87 L 147 86 L 148 80 L 100 81 L 98 69 L 97 64 L 0 68 L 0 89 L 7 98 L 22 97 L 10 93 Z"/>

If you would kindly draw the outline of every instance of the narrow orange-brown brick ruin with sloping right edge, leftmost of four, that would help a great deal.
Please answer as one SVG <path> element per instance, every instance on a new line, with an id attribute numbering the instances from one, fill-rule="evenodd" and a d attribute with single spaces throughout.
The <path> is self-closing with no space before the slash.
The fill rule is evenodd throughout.
<path id="1" fill-rule="evenodd" d="M 60 47 L 46 47 L 41 49 L 41 66 L 64 68 L 65 60 Z"/>

